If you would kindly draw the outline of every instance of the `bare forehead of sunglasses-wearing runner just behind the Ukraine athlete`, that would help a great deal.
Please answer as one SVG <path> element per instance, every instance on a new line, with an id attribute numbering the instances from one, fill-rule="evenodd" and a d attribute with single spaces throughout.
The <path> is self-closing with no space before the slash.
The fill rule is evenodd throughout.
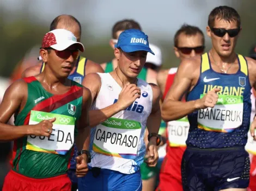
<path id="1" fill-rule="evenodd" d="M 202 34 L 197 33 L 196 35 L 186 35 L 181 33 L 178 39 L 178 47 L 199 47 L 203 46 L 203 36 Z"/>

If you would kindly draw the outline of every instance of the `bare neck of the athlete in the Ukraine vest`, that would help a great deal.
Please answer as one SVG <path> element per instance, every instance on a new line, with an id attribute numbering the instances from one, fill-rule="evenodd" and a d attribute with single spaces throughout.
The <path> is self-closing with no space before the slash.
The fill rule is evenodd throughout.
<path id="1" fill-rule="evenodd" d="M 216 62 L 217 65 L 224 65 L 224 64 L 231 64 L 234 63 L 236 60 L 236 53 L 232 52 L 229 56 L 221 56 L 219 55 L 214 48 L 210 49 L 209 53 L 211 54 L 212 58 Z"/>

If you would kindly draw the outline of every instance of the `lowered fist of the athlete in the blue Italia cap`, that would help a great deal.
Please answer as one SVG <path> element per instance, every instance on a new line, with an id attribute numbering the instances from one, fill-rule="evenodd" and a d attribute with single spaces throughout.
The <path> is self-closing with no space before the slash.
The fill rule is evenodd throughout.
<path id="1" fill-rule="evenodd" d="M 156 163 L 159 159 L 158 151 L 157 151 L 157 147 L 156 147 L 156 139 L 151 138 L 149 140 L 148 147 L 146 150 L 146 155 L 144 158 L 145 158 L 145 160 L 144 160 L 145 163 L 147 163 L 149 167 L 156 166 Z"/>

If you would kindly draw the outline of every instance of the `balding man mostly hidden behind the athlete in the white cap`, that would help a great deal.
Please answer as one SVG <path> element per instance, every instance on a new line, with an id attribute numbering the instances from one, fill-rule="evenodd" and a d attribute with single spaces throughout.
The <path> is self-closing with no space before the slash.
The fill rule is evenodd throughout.
<path id="1" fill-rule="evenodd" d="M 50 30 L 54 29 L 66 29 L 71 31 L 77 38 L 77 41 L 80 42 L 81 40 L 81 24 L 77 19 L 71 15 L 60 15 L 51 23 Z M 36 75 L 44 71 L 45 63 L 41 62 L 36 66 L 30 67 L 26 69 L 23 73 L 23 77 L 30 77 L 32 75 Z M 72 69 L 71 73 L 69 74 L 69 79 L 78 82 L 79 84 L 82 83 L 83 78 L 86 74 L 89 73 L 96 73 L 101 72 L 103 73 L 103 69 L 100 67 L 98 63 L 95 63 L 83 56 L 78 56 L 75 67 Z M 75 145 L 74 156 L 70 161 L 70 169 L 69 169 L 69 177 L 72 181 L 72 191 L 77 190 L 77 177 L 75 175 L 76 171 L 76 156 L 77 156 L 77 149 Z"/>

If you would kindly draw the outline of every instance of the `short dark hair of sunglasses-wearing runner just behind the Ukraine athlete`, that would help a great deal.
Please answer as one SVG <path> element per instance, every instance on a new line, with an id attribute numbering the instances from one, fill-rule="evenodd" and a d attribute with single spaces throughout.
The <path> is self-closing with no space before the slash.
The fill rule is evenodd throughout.
<path id="1" fill-rule="evenodd" d="M 197 33 L 201 34 L 203 36 L 203 44 L 204 44 L 204 34 L 202 32 L 202 30 L 200 30 L 198 27 L 196 26 L 191 26 L 189 24 L 183 24 L 180 29 L 178 31 L 176 31 L 175 35 L 174 35 L 174 46 L 178 47 L 178 43 L 179 43 L 179 35 L 181 33 L 185 33 L 185 35 L 188 36 L 193 36 L 196 35 Z"/>

